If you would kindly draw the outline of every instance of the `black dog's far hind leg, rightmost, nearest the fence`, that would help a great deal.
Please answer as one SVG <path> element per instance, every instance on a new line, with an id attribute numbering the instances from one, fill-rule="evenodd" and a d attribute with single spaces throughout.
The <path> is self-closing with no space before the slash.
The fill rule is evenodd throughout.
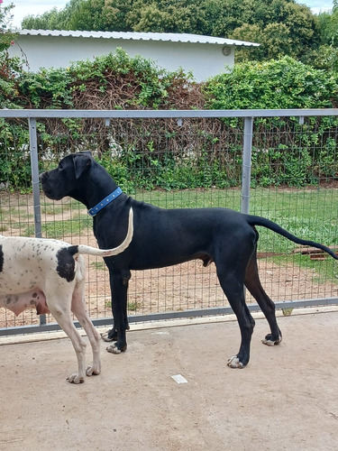
<path id="1" fill-rule="evenodd" d="M 282 340 L 282 335 L 277 324 L 275 312 L 276 307 L 261 286 L 256 252 L 252 255 L 251 260 L 247 266 L 244 284 L 246 288 L 251 292 L 253 298 L 257 300 L 261 311 L 263 312 L 265 318 L 267 318 L 267 321 L 269 323 L 271 333 L 261 340 L 262 343 L 269 346 L 279 345 Z"/>

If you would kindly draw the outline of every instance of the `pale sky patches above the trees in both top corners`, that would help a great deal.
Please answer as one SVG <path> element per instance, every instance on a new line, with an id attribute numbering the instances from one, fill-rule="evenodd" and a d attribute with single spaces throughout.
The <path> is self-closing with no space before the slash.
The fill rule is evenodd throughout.
<path id="1" fill-rule="evenodd" d="M 3 0 L 3 6 L 13 3 L 14 27 L 21 28 L 21 22 L 26 15 L 39 15 L 50 11 L 54 6 L 58 9 L 64 8 L 69 0 Z M 333 7 L 332 0 L 298 0 L 298 4 L 309 6 L 314 14 L 327 11 Z"/>

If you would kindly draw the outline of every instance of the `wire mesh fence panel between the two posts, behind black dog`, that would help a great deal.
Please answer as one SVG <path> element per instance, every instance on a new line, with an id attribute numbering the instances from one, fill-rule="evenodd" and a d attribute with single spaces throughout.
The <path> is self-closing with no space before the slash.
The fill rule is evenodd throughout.
<path id="1" fill-rule="evenodd" d="M 138 200 L 163 208 L 240 208 L 240 130 L 233 131 L 235 145 L 229 151 L 223 145 L 232 131 L 222 124 L 215 130 L 215 120 L 184 120 L 181 125 L 170 119 L 114 120 L 109 126 L 92 120 L 89 127 L 88 135 L 68 142 L 63 138 L 52 152 L 40 143 L 40 160 L 42 154 L 51 155 L 43 158 L 44 169 L 55 167 L 67 152 L 91 151 L 123 191 Z M 41 207 L 44 236 L 96 245 L 86 207 L 70 198 L 53 202 L 43 196 Z M 201 261 L 132 272 L 129 282 L 129 315 L 226 303 L 215 266 L 204 268 Z M 87 305 L 92 318 L 111 316 L 109 275 L 102 259 L 87 257 Z"/>

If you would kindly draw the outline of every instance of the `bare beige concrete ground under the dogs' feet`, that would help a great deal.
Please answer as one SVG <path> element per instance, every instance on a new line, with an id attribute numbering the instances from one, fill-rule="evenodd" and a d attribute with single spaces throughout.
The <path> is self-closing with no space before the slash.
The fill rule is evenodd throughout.
<path id="1" fill-rule="evenodd" d="M 233 320 L 131 330 L 124 354 L 102 342 L 103 372 L 81 385 L 66 382 L 77 367 L 68 338 L 0 338 L 0 449 L 337 450 L 338 311 L 314 312 L 279 318 L 275 347 L 256 319 L 243 370 L 226 366 Z"/>

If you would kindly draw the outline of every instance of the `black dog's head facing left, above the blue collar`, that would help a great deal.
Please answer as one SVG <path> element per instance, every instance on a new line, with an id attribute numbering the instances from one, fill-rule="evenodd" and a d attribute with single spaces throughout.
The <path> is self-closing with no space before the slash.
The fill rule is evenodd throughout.
<path id="1" fill-rule="evenodd" d="M 59 200 L 65 196 L 79 198 L 83 192 L 83 179 L 95 160 L 91 152 L 70 153 L 59 161 L 54 170 L 40 175 L 41 187 L 48 198 Z"/>

